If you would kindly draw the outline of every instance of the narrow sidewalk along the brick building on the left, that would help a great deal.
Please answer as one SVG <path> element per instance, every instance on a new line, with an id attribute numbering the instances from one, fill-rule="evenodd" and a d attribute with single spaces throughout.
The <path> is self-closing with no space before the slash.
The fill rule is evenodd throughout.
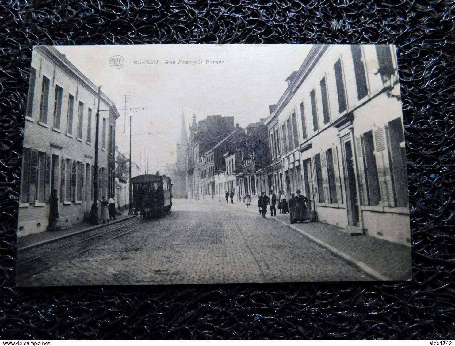
<path id="1" fill-rule="evenodd" d="M 81 222 L 75 225 L 72 225 L 70 228 L 63 230 L 63 231 L 44 231 L 39 233 L 28 234 L 23 237 L 18 237 L 17 239 L 17 251 L 24 251 L 30 249 L 32 247 L 36 247 L 38 245 L 53 242 L 58 239 L 63 239 L 66 237 L 71 237 L 72 235 L 88 232 L 97 228 L 105 227 L 108 225 L 112 225 L 118 222 L 122 222 L 133 217 L 136 215 L 128 215 L 128 211 L 122 211 L 122 215 L 117 213 L 116 220 L 111 220 L 109 223 L 101 223 L 96 226 L 91 226 L 88 223 Z"/>

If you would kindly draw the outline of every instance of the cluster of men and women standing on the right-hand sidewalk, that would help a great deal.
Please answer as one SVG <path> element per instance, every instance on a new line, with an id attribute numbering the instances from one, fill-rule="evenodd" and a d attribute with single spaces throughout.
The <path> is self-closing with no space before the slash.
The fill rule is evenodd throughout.
<path id="1" fill-rule="evenodd" d="M 270 197 L 265 194 L 265 191 L 261 192 L 261 195 L 258 199 L 259 214 L 262 214 L 262 217 L 265 218 L 267 208 L 270 208 L 270 216 L 276 216 L 277 210 L 275 208 L 275 205 L 277 205 L 278 202 L 278 209 L 280 211 L 280 214 L 289 213 L 289 219 L 291 223 L 306 221 L 307 206 L 305 203 L 308 202 L 308 198 L 303 196 L 300 190 L 297 190 L 296 193 L 297 197 L 294 193 L 291 193 L 291 198 L 289 201 L 287 201 L 284 192 L 282 193 L 281 191 L 278 191 L 278 198 L 275 193 L 273 193 L 273 191 L 270 191 Z M 248 197 L 245 197 L 248 201 Z M 249 196 L 249 203 L 251 204 L 251 196 Z"/>

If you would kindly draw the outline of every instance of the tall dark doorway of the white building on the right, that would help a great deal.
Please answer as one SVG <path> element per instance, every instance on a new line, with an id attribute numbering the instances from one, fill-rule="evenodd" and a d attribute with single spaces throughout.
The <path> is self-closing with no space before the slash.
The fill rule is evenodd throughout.
<path id="1" fill-rule="evenodd" d="M 347 212 L 348 212 L 348 224 L 349 226 L 359 226 L 359 200 L 357 198 L 357 184 L 355 179 L 354 170 L 354 155 L 352 149 L 352 141 L 350 138 L 346 138 L 343 141 L 344 149 L 344 183 L 346 188 L 347 196 Z"/>

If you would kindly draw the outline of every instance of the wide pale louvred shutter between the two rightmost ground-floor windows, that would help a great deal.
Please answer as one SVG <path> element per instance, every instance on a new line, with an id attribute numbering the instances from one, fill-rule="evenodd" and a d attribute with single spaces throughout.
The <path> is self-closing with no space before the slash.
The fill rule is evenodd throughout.
<path id="1" fill-rule="evenodd" d="M 387 149 L 385 131 L 386 130 L 383 127 L 374 130 L 374 148 L 376 148 L 375 156 L 378 167 L 379 190 L 381 192 L 382 205 L 385 207 L 394 207 L 389 151 Z"/>

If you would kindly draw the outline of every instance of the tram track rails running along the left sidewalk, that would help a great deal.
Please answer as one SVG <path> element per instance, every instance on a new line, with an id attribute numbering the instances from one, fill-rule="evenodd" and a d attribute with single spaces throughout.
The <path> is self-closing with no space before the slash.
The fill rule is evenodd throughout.
<path id="1" fill-rule="evenodd" d="M 20 275 L 17 276 L 17 282 L 25 282 L 27 281 L 27 278 L 30 278 L 31 276 L 35 276 L 36 274 L 44 272 L 61 262 L 70 260 L 71 258 L 90 251 L 95 247 L 132 232 L 139 228 L 142 223 L 142 220 L 134 220 L 132 222 L 122 224 L 121 226 L 103 230 L 103 232 L 98 232 L 89 237 L 77 240 L 76 242 L 71 242 L 71 238 L 82 236 L 81 234 L 76 234 L 73 237 L 65 238 L 65 242 L 69 242 L 68 244 L 57 246 L 49 250 L 41 250 L 31 253 L 30 256 L 25 258 L 19 257 L 16 272 Z"/>

